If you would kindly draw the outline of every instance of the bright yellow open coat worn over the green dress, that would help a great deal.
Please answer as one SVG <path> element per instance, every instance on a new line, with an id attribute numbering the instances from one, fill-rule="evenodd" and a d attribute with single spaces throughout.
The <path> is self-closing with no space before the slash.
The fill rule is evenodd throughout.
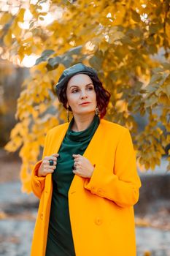
<path id="1" fill-rule="evenodd" d="M 47 132 L 42 159 L 58 153 L 69 123 Z M 134 204 L 141 181 L 128 129 L 101 119 L 83 154 L 95 165 L 91 178 L 75 175 L 69 188 L 69 214 L 76 256 L 136 256 Z M 40 198 L 31 256 L 45 256 L 50 204 L 51 173 L 31 175 L 31 187 Z M 57 239 L 57 238 L 56 238 Z"/>

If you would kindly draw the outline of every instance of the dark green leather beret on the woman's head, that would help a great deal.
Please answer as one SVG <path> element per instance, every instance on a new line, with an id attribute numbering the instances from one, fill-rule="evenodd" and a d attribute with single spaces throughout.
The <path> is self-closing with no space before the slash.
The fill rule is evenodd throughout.
<path id="1" fill-rule="evenodd" d="M 89 76 L 98 77 L 95 69 L 93 69 L 92 67 L 85 66 L 82 63 L 75 64 L 72 67 L 65 69 L 61 77 L 59 78 L 58 83 L 55 85 L 55 91 L 59 100 L 61 89 L 63 89 L 64 86 L 67 86 L 67 83 L 69 82 L 69 79 L 72 78 L 72 76 L 77 74 L 86 74 Z"/>

